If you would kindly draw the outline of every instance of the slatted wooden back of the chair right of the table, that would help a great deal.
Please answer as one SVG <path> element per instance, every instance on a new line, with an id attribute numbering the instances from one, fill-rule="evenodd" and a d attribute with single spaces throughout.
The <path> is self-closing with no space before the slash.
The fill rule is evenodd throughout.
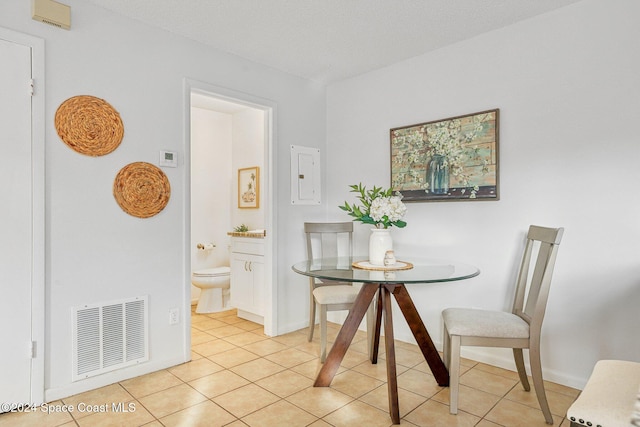
<path id="1" fill-rule="evenodd" d="M 532 225 L 527 233 L 512 312 L 529 323 L 531 335 L 539 335 L 542 326 L 563 232 L 563 228 Z"/>

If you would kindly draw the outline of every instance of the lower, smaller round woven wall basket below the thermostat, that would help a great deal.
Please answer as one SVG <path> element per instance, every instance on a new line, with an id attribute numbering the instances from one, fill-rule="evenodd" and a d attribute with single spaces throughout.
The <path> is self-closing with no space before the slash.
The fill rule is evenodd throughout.
<path id="1" fill-rule="evenodd" d="M 129 215 L 149 218 L 167 206 L 171 186 L 157 166 L 145 162 L 130 163 L 116 175 L 113 196 Z"/>

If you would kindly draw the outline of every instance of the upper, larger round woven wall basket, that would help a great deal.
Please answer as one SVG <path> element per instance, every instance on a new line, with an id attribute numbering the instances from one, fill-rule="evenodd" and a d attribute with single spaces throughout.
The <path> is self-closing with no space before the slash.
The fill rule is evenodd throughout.
<path id="1" fill-rule="evenodd" d="M 95 96 L 67 99 L 58 107 L 54 123 L 60 139 L 87 156 L 111 153 L 124 136 L 120 114 L 107 101 Z"/>

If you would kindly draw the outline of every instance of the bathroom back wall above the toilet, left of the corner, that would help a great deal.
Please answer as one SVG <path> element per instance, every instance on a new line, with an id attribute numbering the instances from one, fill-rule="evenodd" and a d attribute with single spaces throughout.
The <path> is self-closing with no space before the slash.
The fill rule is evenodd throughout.
<path id="1" fill-rule="evenodd" d="M 203 108 L 191 109 L 191 269 L 229 265 L 233 172 L 233 116 Z M 198 243 L 213 243 L 199 250 Z M 197 301 L 200 289 L 191 287 Z"/>

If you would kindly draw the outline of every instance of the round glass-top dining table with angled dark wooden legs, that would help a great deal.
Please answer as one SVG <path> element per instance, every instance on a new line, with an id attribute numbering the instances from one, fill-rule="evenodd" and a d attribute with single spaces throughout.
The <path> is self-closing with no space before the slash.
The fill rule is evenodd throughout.
<path id="1" fill-rule="evenodd" d="M 391 267 L 383 267 L 370 265 L 364 257 L 343 257 L 302 261 L 294 264 L 292 269 L 304 276 L 322 280 L 362 283 L 358 296 L 316 377 L 314 387 L 331 385 L 365 313 L 374 304 L 373 330 L 367 331 L 371 346 L 369 354 L 371 363 L 377 363 L 382 319 L 384 318 L 389 415 L 394 424 L 400 424 L 391 310 L 392 295 L 398 303 L 434 378 L 441 386 L 449 385 L 449 371 L 440 358 L 405 284 L 442 283 L 470 279 L 480 274 L 478 268 L 455 261 L 420 258 L 398 260 Z"/>

